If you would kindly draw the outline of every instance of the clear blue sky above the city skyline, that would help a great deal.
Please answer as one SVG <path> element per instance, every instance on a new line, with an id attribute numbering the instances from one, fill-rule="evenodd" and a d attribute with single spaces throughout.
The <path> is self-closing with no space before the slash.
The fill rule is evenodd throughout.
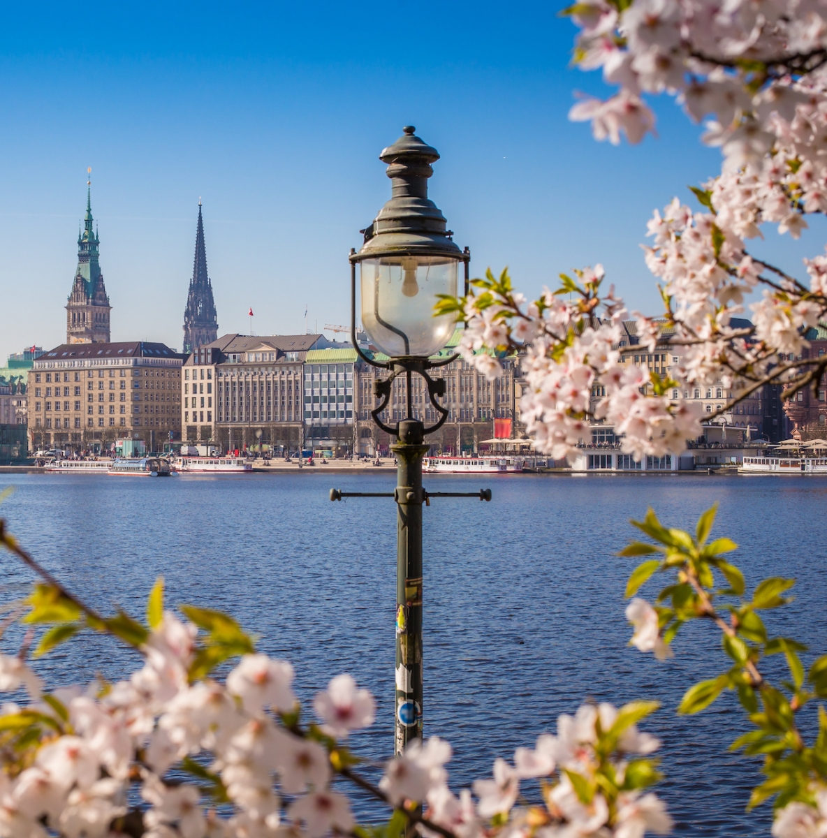
<path id="1" fill-rule="evenodd" d="M 675 104 L 658 138 L 567 121 L 574 28 L 548 3 L 18 3 L 0 28 L 0 363 L 65 339 L 92 167 L 112 339 L 180 348 L 199 196 L 220 334 L 348 323 L 347 254 L 390 197 L 380 149 L 437 147 L 431 197 L 535 294 L 601 261 L 658 311 L 639 243 L 715 172 Z M 809 251 L 821 248 L 810 235 Z M 773 233 L 769 253 L 789 256 Z M 788 261 L 788 264 L 789 261 Z M 799 270 L 800 273 L 800 270 Z"/>

